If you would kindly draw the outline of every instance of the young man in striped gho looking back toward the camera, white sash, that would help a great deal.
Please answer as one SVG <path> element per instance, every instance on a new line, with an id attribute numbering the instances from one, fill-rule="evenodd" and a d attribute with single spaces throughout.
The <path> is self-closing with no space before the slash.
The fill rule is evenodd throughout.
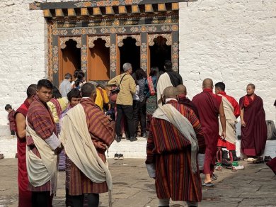
<path id="1" fill-rule="evenodd" d="M 28 109 L 26 121 L 26 163 L 32 206 L 52 206 L 57 190 L 57 155 L 62 147 L 47 102 L 52 99 L 52 83 L 41 79 Z"/>

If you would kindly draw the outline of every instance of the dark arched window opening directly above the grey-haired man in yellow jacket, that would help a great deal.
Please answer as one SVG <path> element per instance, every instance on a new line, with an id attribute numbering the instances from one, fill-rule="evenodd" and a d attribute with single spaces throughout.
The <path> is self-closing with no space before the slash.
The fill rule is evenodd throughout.
<path id="1" fill-rule="evenodd" d="M 119 45 L 120 46 L 120 45 Z M 125 62 L 132 64 L 132 72 L 140 68 L 140 47 L 137 46 L 137 40 L 132 37 L 127 37 L 122 40 L 120 50 L 120 70 L 122 72 L 122 65 Z"/>

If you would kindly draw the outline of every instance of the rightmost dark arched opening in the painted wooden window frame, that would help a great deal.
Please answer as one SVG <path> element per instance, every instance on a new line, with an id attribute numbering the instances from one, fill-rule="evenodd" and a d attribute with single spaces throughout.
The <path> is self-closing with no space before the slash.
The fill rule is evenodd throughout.
<path id="1" fill-rule="evenodd" d="M 153 36 L 149 43 L 150 67 L 163 70 L 165 60 L 171 60 L 171 44 L 162 35 Z"/>

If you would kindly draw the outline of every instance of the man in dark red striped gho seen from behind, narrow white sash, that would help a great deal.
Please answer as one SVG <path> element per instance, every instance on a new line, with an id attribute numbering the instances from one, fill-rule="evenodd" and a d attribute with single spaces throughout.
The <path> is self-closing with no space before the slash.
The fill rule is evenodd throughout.
<path id="1" fill-rule="evenodd" d="M 205 139 L 195 112 L 178 104 L 178 91 L 169 86 L 153 114 L 146 145 L 146 167 L 155 179 L 159 206 L 187 201 L 197 206 L 202 199 L 197 153 L 205 153 Z"/>

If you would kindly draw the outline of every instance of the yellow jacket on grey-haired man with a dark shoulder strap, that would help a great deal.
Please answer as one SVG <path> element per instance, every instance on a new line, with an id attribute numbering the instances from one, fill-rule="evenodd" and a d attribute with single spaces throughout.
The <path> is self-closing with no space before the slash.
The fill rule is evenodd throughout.
<path id="1" fill-rule="evenodd" d="M 124 75 L 125 77 L 122 79 Z M 122 83 L 120 84 L 121 79 L 122 79 Z M 117 95 L 116 104 L 132 106 L 133 95 L 136 92 L 136 84 L 134 82 L 134 79 L 130 74 L 123 73 L 114 77 L 108 82 L 108 85 L 118 86 L 119 84 L 120 84 L 120 92 Z"/>

